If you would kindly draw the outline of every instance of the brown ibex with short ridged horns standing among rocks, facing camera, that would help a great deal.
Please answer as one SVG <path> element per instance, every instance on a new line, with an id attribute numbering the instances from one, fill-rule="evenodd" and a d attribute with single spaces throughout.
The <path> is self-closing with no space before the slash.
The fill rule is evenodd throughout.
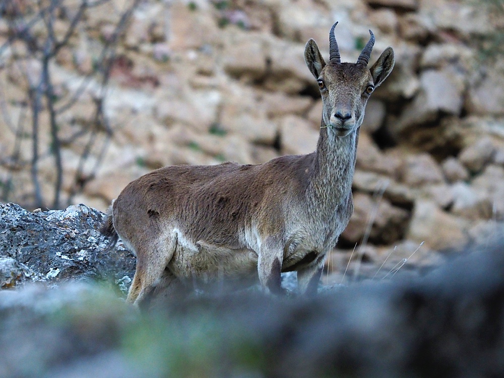
<path id="1" fill-rule="evenodd" d="M 198 280 L 258 275 L 264 288 L 281 293 L 280 273 L 290 271 L 297 271 L 300 292 L 317 291 L 328 251 L 353 212 L 364 108 L 394 67 L 388 47 L 367 68 L 371 31 L 357 62 L 342 63 L 336 24 L 327 64 L 313 39 L 304 52 L 324 104 L 315 152 L 258 165 L 164 167 L 128 184 L 112 202 L 102 231 L 137 256 L 128 302 L 176 294 Z"/>

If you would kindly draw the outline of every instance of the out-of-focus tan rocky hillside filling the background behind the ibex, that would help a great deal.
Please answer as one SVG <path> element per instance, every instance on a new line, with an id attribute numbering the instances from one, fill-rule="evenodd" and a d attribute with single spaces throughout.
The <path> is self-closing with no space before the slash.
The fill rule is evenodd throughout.
<path id="1" fill-rule="evenodd" d="M 70 36 L 50 66 L 58 98 L 81 86 L 112 38 L 117 15 L 130 3 L 114 0 L 87 11 L 86 27 Z M 76 11 L 72 4 L 55 23 L 60 37 Z M 504 33 L 499 4 L 139 2 L 117 45 L 103 102 L 112 137 L 103 129 L 93 134 L 106 144 L 106 152 L 88 151 L 84 174 L 96 162 L 99 167 L 71 202 L 104 210 L 128 182 L 164 165 L 254 164 L 313 151 L 322 101 L 304 64 L 304 43 L 314 38 L 328 55 L 328 32 L 339 21 L 343 61 L 357 58 L 368 29 L 376 35 L 371 60 L 389 45 L 396 53 L 391 77 L 367 106 L 354 179 L 355 213 L 339 249 L 351 250 L 364 238 L 366 245 L 356 255 L 364 261 L 361 269 L 366 262 L 375 269 L 391 252 L 390 262 L 401 264 L 421 245 L 409 263 L 423 266 L 438 261 L 437 251 L 485 241 L 502 232 L 504 218 L 504 68 L 492 45 Z M 35 11 L 25 8 L 28 14 Z M 9 27 L 8 18 L 0 18 L 0 45 L 8 42 Z M 23 69 L 14 70 L 16 65 Z M 40 70 L 26 46 L 7 43 L 0 55 L 4 114 L 29 118 L 20 98 L 27 90 L 25 77 L 38 77 Z M 71 111 L 58 116 L 62 141 L 88 127 L 99 91 L 94 80 Z M 56 173 L 44 109 L 38 169 L 41 193 L 49 201 Z M 13 189 L 3 200 L 30 207 L 30 165 L 13 166 L 9 157 L 17 151 L 30 161 L 32 129 L 27 125 L 25 137 L 17 138 L 6 119 L 0 118 L 0 182 L 13 178 Z M 61 144 L 65 199 L 75 192 L 70 177 L 81 168 L 87 146 L 83 139 L 72 141 Z M 333 254 L 329 265 L 344 268 L 350 255 Z"/>

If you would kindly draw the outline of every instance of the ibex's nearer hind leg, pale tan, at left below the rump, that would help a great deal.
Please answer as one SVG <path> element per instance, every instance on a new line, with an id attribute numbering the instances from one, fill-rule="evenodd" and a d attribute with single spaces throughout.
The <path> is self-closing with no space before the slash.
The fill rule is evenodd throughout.
<path id="1" fill-rule="evenodd" d="M 175 243 L 164 239 L 135 249 L 137 269 L 126 301 L 140 305 L 155 286 L 163 284 L 163 272 L 173 256 Z"/>

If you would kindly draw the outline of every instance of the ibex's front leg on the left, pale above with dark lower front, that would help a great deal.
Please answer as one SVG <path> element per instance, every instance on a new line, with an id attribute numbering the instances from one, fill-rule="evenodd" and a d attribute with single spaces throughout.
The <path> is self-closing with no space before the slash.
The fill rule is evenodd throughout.
<path id="1" fill-rule="evenodd" d="M 258 272 L 261 285 L 273 294 L 285 294 L 281 285 L 282 261 L 282 243 L 276 237 L 268 237 L 259 251 Z"/>

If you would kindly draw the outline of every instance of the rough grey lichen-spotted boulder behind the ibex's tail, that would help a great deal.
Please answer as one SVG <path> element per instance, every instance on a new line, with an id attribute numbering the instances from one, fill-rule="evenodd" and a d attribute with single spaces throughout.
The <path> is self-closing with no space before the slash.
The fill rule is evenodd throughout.
<path id="1" fill-rule="evenodd" d="M 32 213 L 0 203 L 0 286 L 106 280 L 124 291 L 135 257 L 121 243 L 106 250 L 108 240 L 99 232 L 104 217 L 85 205 Z"/>

